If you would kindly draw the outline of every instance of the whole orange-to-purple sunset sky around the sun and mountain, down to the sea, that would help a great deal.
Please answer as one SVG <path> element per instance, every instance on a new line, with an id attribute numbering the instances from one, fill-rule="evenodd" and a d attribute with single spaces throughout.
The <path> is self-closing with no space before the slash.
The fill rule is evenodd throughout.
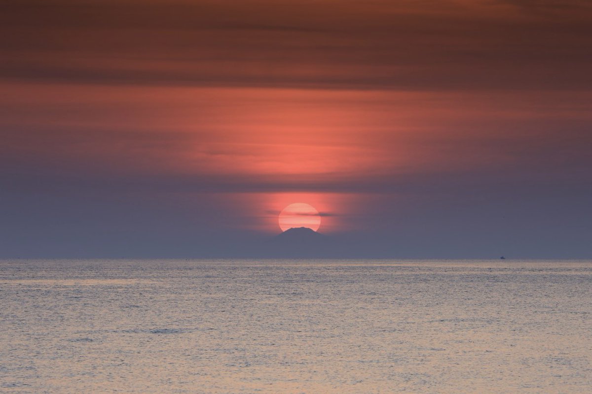
<path id="1" fill-rule="evenodd" d="M 0 257 L 592 258 L 587 0 L 0 5 Z"/>

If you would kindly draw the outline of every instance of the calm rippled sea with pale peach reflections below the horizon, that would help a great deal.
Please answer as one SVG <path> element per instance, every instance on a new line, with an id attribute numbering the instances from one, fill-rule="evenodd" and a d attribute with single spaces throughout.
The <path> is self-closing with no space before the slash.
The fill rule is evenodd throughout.
<path id="1" fill-rule="evenodd" d="M 0 261 L 1 393 L 592 393 L 592 262 Z"/>

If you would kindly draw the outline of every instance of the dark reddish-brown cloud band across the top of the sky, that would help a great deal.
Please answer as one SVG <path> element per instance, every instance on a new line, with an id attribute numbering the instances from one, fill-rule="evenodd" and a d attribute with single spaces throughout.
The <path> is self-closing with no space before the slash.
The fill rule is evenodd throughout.
<path id="1" fill-rule="evenodd" d="M 0 74 L 153 86 L 592 89 L 587 2 L 470 4 L 12 2 L 0 15 Z"/>

